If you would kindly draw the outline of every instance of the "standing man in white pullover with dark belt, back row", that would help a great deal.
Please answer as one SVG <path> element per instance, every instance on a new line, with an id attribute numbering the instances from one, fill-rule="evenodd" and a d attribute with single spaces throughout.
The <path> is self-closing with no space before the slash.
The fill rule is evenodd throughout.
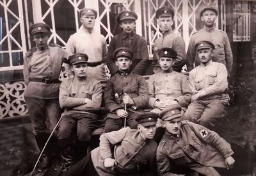
<path id="1" fill-rule="evenodd" d="M 80 10 L 81 28 L 70 36 L 67 42 L 68 56 L 82 52 L 88 55 L 87 77 L 97 80 L 106 78 L 105 65 L 102 59 L 108 52 L 107 43 L 103 35 L 94 30 L 97 11 L 92 8 L 83 8 Z M 72 77 L 72 71 L 67 72 Z"/>

